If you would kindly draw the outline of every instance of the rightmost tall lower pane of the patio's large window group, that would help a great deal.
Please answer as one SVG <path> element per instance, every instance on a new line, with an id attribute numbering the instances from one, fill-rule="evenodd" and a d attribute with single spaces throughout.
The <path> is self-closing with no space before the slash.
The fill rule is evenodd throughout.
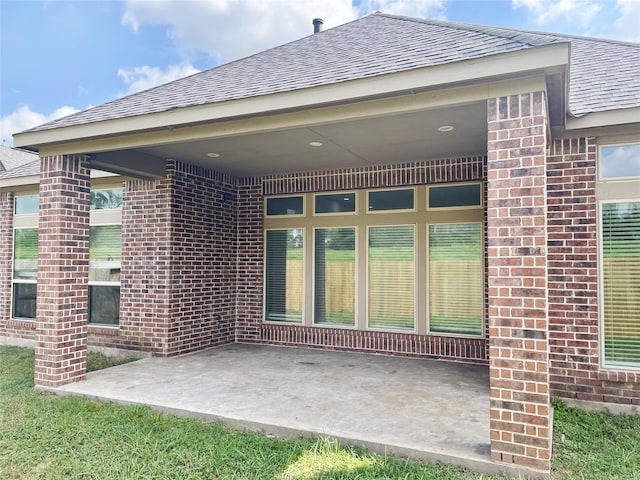
<path id="1" fill-rule="evenodd" d="M 429 225 L 429 330 L 482 334 L 482 224 Z"/>

